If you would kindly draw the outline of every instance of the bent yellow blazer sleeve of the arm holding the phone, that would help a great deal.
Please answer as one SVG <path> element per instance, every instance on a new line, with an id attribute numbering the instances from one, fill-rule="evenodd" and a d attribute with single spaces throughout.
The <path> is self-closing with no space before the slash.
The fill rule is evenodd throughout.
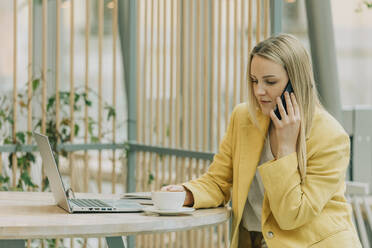
<path id="1" fill-rule="evenodd" d="M 307 153 L 304 183 L 301 184 L 296 153 L 258 167 L 271 211 L 283 230 L 313 220 L 344 187 L 350 158 L 349 137 L 344 131 L 335 134 L 326 130 L 321 131 L 314 144 L 307 144 L 314 151 Z"/>

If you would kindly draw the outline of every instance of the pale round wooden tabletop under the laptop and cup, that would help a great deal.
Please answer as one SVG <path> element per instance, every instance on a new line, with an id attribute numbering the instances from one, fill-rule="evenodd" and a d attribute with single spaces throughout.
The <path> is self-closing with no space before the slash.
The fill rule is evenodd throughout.
<path id="1" fill-rule="evenodd" d="M 119 195 L 76 194 L 77 198 Z M 229 220 L 231 209 L 200 209 L 190 215 L 145 213 L 69 214 L 55 205 L 51 193 L 0 192 L 0 239 L 127 236 L 216 225 Z"/>

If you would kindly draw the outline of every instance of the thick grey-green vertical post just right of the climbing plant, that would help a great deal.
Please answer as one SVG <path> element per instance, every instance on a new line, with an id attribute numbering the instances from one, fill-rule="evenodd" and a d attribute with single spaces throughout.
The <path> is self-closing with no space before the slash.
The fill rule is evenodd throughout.
<path id="1" fill-rule="evenodd" d="M 137 0 L 119 3 L 119 36 L 124 65 L 124 86 L 128 108 L 128 140 L 137 141 Z M 129 150 L 127 157 L 127 192 L 136 191 L 136 153 Z M 128 247 L 135 247 L 135 238 L 128 236 Z"/>

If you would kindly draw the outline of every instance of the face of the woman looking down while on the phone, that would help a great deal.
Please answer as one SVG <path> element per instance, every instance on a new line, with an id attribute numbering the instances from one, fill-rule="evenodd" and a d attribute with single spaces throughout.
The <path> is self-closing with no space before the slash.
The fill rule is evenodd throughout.
<path id="1" fill-rule="evenodd" d="M 251 62 L 253 93 L 264 115 L 269 116 L 275 109 L 276 98 L 280 97 L 288 83 L 288 75 L 283 66 L 254 55 Z"/>

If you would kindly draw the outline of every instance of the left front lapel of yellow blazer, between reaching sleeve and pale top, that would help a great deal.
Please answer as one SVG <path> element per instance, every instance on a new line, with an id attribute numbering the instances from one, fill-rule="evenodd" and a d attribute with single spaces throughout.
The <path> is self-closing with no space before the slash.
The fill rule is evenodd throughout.
<path id="1" fill-rule="evenodd" d="M 243 214 L 244 205 L 248 196 L 248 189 L 252 179 L 256 173 L 256 168 L 259 163 L 264 141 L 265 134 L 267 133 L 270 118 L 259 113 L 258 121 L 260 130 L 252 125 L 241 127 L 240 135 L 240 161 L 238 169 L 238 220 Z"/>

